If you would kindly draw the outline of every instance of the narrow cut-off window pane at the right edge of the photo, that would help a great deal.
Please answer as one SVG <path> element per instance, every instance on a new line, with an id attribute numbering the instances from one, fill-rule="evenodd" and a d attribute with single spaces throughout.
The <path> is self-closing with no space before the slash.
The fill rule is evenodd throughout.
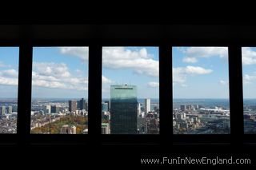
<path id="1" fill-rule="evenodd" d="M 242 48 L 244 132 L 256 133 L 256 48 Z"/>

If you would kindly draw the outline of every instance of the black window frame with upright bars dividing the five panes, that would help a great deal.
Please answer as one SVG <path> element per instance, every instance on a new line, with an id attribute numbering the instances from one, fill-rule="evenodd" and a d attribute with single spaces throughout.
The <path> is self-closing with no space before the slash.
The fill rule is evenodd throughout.
<path id="1" fill-rule="evenodd" d="M 12 27 L 12 26 L 10 26 Z M 15 26 L 13 26 L 15 27 Z M 20 37 L 3 38 L 0 46 L 19 46 L 18 132 L 0 134 L 0 143 L 21 144 L 243 144 L 256 134 L 243 134 L 242 46 L 256 45 L 248 26 L 229 25 L 81 25 L 20 26 Z M 250 33 L 256 26 L 251 26 Z M 58 33 L 58 30 L 62 31 Z M 83 30 L 85 29 L 85 30 Z M 45 33 L 41 34 L 41 31 Z M 48 31 L 48 32 L 47 32 Z M 31 34 L 34 33 L 34 34 Z M 242 33 L 242 35 L 240 35 Z M 11 34 L 10 34 L 11 35 Z M 46 37 L 44 36 L 46 35 Z M 32 56 L 34 46 L 88 46 L 88 135 L 30 134 Z M 156 46 L 159 49 L 159 135 L 102 135 L 102 47 Z M 229 51 L 230 134 L 174 135 L 172 128 L 172 47 L 226 46 Z M 19 114 L 24 113 L 24 114 Z M 92 114 L 92 113 L 99 113 Z M 235 114 L 234 114 L 235 113 Z M 170 121 L 168 121 L 170 120 Z"/>

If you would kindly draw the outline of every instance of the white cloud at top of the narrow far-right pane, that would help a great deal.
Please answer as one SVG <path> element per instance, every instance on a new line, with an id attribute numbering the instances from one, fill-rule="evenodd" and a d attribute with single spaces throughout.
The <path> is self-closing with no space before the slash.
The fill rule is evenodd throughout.
<path id="1" fill-rule="evenodd" d="M 256 64 L 256 51 L 250 47 L 242 48 L 242 64 L 243 65 L 254 65 Z"/>

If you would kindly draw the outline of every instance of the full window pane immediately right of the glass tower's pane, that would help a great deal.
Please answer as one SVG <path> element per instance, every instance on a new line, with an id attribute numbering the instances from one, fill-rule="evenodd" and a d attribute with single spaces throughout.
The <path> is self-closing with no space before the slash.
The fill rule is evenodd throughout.
<path id="1" fill-rule="evenodd" d="M 228 80 L 226 47 L 174 47 L 174 134 L 230 133 Z"/>

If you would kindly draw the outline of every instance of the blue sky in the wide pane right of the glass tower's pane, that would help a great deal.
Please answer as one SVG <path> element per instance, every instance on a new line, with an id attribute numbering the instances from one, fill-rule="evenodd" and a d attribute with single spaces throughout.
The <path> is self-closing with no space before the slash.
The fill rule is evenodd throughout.
<path id="1" fill-rule="evenodd" d="M 226 47 L 173 47 L 174 98 L 228 98 Z"/>

